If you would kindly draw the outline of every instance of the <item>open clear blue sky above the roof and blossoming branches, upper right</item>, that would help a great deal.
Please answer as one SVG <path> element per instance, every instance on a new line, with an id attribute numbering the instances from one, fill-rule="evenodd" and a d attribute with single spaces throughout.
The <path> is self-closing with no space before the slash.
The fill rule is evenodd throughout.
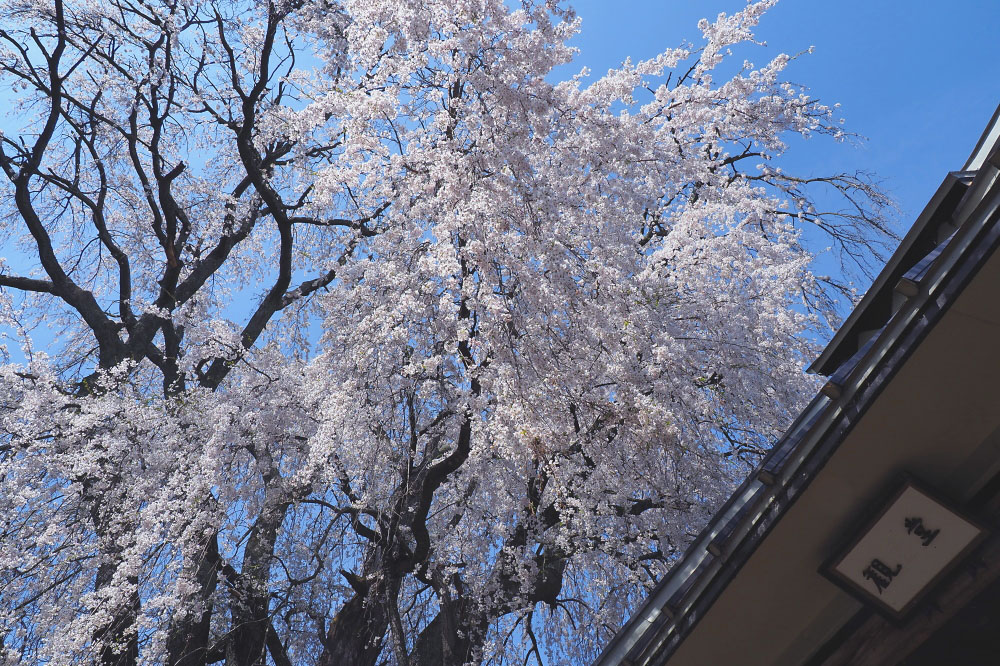
<path id="1" fill-rule="evenodd" d="M 742 0 L 576 0 L 575 44 L 595 74 L 626 56 L 647 58 L 685 40 L 698 19 Z M 948 171 L 960 169 L 1000 104 L 1000 0 L 782 0 L 763 19 L 763 64 L 779 52 L 815 46 L 788 78 L 813 97 L 840 102 L 860 145 L 811 140 L 803 167 L 875 172 L 900 206 L 905 230 Z M 803 160 L 803 161 L 800 161 Z"/>

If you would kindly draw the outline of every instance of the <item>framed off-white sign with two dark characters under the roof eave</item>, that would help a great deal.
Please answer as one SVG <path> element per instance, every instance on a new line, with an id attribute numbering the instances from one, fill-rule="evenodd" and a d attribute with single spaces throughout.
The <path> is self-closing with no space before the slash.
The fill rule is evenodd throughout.
<path id="1" fill-rule="evenodd" d="M 985 536 L 907 479 L 823 573 L 898 619 Z"/>

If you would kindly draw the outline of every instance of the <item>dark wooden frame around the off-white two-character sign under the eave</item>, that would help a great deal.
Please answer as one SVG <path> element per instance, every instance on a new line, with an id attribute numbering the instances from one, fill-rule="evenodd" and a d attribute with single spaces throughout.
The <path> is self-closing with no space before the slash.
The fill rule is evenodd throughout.
<path id="1" fill-rule="evenodd" d="M 895 608 L 880 599 L 878 595 L 872 593 L 871 590 L 862 587 L 855 580 L 843 574 L 837 569 L 837 567 L 854 550 L 858 543 L 865 536 L 867 536 L 869 532 L 871 532 L 871 530 L 889 511 L 889 509 L 895 506 L 897 500 L 899 500 L 903 493 L 911 488 L 938 503 L 941 507 L 950 511 L 961 520 L 977 528 L 979 533 L 973 537 L 973 539 L 966 544 L 961 551 L 953 556 L 936 574 L 934 574 L 929 581 L 920 587 L 913 594 L 910 600 L 906 602 L 906 605 L 904 605 L 903 608 L 897 611 Z M 918 480 L 908 472 L 897 475 L 897 477 L 890 484 L 888 484 L 887 491 L 881 493 L 874 501 L 871 502 L 871 507 L 872 509 L 870 511 L 863 513 L 850 528 L 845 530 L 845 537 L 840 540 L 837 547 L 833 550 L 833 555 L 827 558 L 826 561 L 823 562 L 822 566 L 820 566 L 819 573 L 858 601 L 861 601 L 866 606 L 873 607 L 881 615 L 898 626 L 901 625 L 907 617 L 909 617 L 913 610 L 931 590 L 936 588 L 938 584 L 940 584 L 941 581 L 948 576 L 948 574 L 954 571 L 955 568 L 970 553 L 972 553 L 972 551 L 974 551 L 976 547 L 979 546 L 984 539 L 986 539 L 986 537 L 989 536 L 990 530 L 980 520 L 970 516 L 965 510 L 957 508 L 956 503 L 943 499 L 939 492 L 928 487 L 927 484 Z"/>

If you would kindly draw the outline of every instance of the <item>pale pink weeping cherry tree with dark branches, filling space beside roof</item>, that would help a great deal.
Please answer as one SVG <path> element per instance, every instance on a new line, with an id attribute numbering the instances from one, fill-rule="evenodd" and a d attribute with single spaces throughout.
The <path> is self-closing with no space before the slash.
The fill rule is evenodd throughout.
<path id="1" fill-rule="evenodd" d="M 886 238 L 771 4 L 554 82 L 556 0 L 3 0 L 0 663 L 599 651 Z"/>

